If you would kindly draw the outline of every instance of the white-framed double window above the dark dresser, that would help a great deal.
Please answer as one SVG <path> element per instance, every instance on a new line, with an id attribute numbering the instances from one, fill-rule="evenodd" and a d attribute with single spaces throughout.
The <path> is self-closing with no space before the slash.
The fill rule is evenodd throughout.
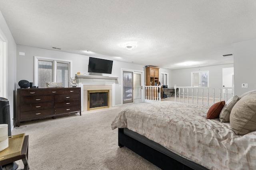
<path id="1" fill-rule="evenodd" d="M 35 56 L 35 86 L 46 88 L 45 82 L 62 82 L 64 87 L 69 87 L 71 64 L 72 61 Z"/>

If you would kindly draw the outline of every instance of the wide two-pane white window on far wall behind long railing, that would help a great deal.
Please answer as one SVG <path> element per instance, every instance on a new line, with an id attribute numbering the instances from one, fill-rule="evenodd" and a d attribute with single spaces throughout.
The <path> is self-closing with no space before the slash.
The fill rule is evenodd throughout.
<path id="1" fill-rule="evenodd" d="M 209 71 L 191 72 L 193 87 L 209 87 Z"/>

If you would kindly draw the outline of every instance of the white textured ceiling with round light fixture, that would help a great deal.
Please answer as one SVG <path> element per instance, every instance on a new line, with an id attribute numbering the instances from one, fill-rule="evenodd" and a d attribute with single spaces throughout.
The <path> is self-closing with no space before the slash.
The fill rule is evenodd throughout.
<path id="1" fill-rule="evenodd" d="M 222 55 L 256 38 L 255 0 L 0 0 L 0 11 L 17 44 L 168 69 L 233 63 Z"/>

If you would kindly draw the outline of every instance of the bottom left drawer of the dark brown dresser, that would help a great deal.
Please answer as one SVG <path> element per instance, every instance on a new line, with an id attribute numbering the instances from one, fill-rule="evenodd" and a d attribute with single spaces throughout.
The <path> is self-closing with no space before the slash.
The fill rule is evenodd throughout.
<path id="1" fill-rule="evenodd" d="M 34 119 L 44 116 L 50 116 L 54 114 L 54 109 L 36 110 L 36 111 L 26 111 L 20 113 L 20 119 Z"/>

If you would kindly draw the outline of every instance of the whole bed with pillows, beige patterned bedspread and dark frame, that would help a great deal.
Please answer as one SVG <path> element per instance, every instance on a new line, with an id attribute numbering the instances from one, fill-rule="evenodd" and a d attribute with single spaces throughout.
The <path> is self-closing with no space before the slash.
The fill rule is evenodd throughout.
<path id="1" fill-rule="evenodd" d="M 255 169 L 256 106 L 248 104 L 256 105 L 256 94 L 220 103 L 210 107 L 163 101 L 128 107 L 112 121 L 112 129 L 118 128 L 119 147 L 161 169 Z M 207 119 L 211 109 L 218 114 Z M 225 111 L 230 119 L 220 120 Z M 245 122 L 249 129 L 239 131 L 234 122 L 244 122 L 244 115 L 250 119 Z"/>

